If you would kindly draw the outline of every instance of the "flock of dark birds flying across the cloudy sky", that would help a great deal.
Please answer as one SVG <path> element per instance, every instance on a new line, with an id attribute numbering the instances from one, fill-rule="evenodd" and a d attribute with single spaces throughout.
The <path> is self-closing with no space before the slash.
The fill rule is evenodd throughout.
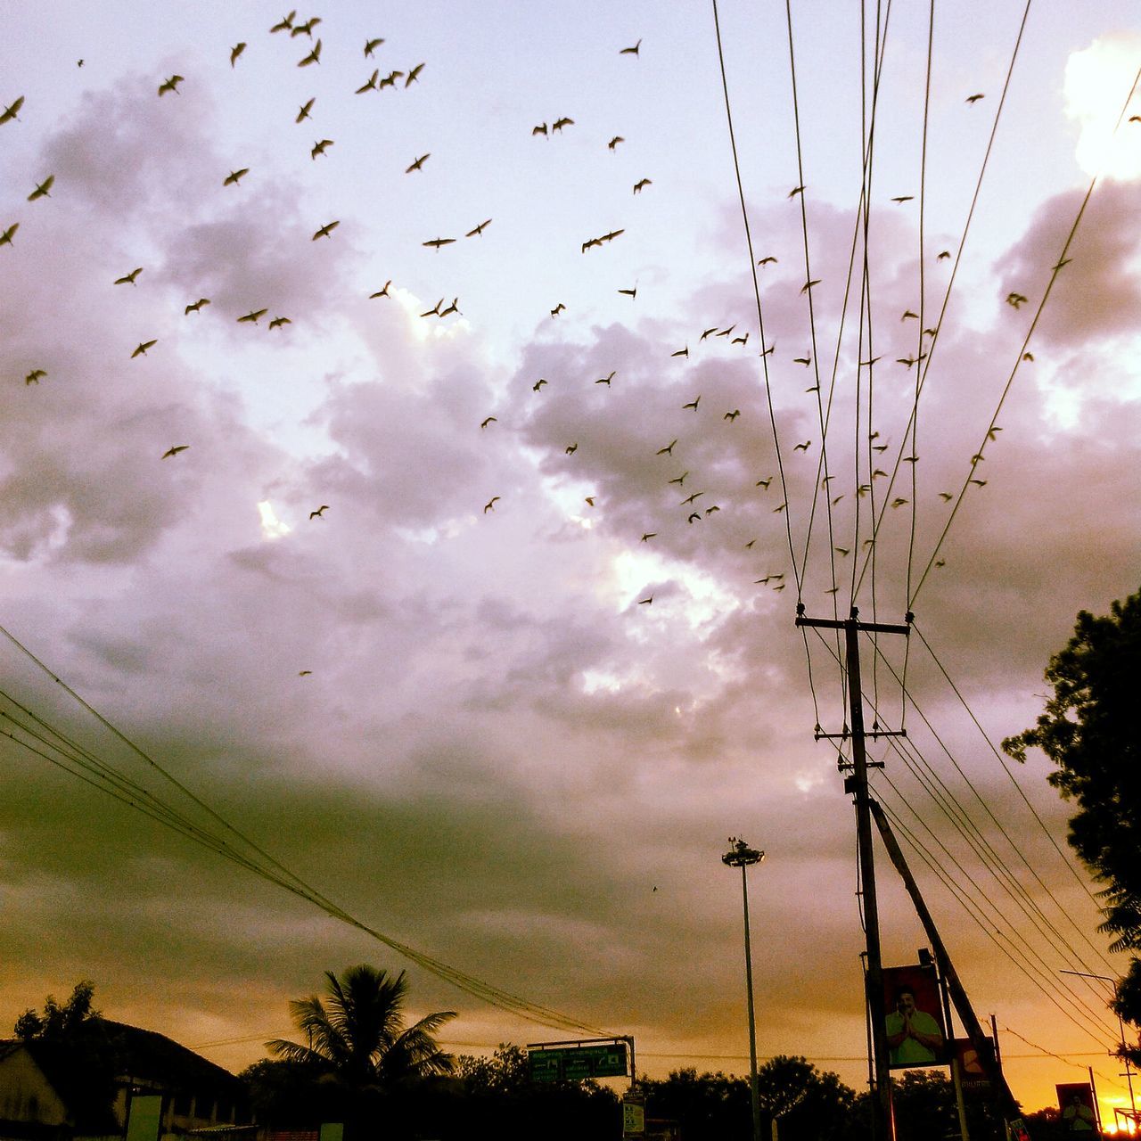
<path id="1" fill-rule="evenodd" d="M 319 37 L 315 37 L 314 33 L 317 25 L 322 23 L 323 21 L 318 16 L 311 16 L 305 21 L 299 22 L 297 19 L 297 11 L 294 10 L 289 13 L 285 17 L 283 17 L 277 24 L 275 24 L 268 31 L 269 34 L 272 35 L 285 35 L 290 40 L 293 40 L 299 37 L 304 37 L 306 39 L 306 48 L 308 50 L 304 55 L 301 55 L 296 63 L 297 67 L 305 68 L 321 64 L 322 39 Z M 364 43 L 364 50 L 363 50 L 364 58 L 371 59 L 375 55 L 377 50 L 386 41 L 382 37 L 367 38 Z M 642 41 L 639 39 L 634 44 L 621 48 L 618 54 L 622 56 L 638 58 L 640 56 L 641 42 Z M 246 50 L 246 47 L 248 47 L 246 41 L 238 41 L 232 47 L 229 51 L 229 65 L 232 68 L 238 65 L 238 62 L 241 60 L 243 54 Z M 80 60 L 80 65 L 82 65 L 82 60 Z M 397 86 L 402 86 L 403 89 L 407 90 L 408 88 L 412 87 L 413 83 L 418 83 L 421 81 L 421 76 L 424 74 L 424 68 L 426 68 L 424 63 L 418 63 L 414 66 L 407 67 L 406 70 L 390 70 L 387 72 L 387 74 L 381 75 L 381 68 L 377 67 L 372 71 L 372 74 L 365 80 L 363 84 L 355 88 L 355 94 L 365 95 L 366 92 L 370 91 L 380 92 L 388 88 L 396 88 Z M 157 84 L 159 98 L 164 98 L 168 95 L 179 96 L 180 95 L 179 89 L 184 82 L 185 78 L 178 73 L 173 73 L 165 76 Z M 982 98 L 984 95 L 981 92 L 978 92 L 969 96 L 966 102 L 968 104 L 974 104 Z M 305 122 L 311 116 L 315 102 L 316 97 L 310 97 L 304 104 L 300 105 L 294 118 L 294 122 L 297 124 Z M 19 96 L 16 99 L 14 99 L 14 102 L 10 103 L 8 106 L 6 106 L 2 113 L 0 113 L 0 124 L 6 124 L 18 120 L 23 106 L 24 106 L 23 96 Z M 549 123 L 548 121 L 544 120 L 543 122 L 535 124 L 532 128 L 531 133 L 533 137 L 543 138 L 549 141 L 553 136 L 561 135 L 565 130 L 573 128 L 574 126 L 575 126 L 574 119 L 570 118 L 569 115 L 563 114 L 557 118 L 553 118 L 552 120 L 549 121 Z M 622 135 L 613 135 L 609 138 L 609 141 L 606 143 L 606 147 L 613 152 L 623 143 L 625 143 L 625 138 Z M 310 149 L 310 159 L 313 161 L 316 161 L 318 157 L 326 154 L 329 148 L 332 146 L 334 146 L 334 140 L 331 138 L 319 138 L 315 140 Z M 426 152 L 423 154 L 414 156 L 410 162 L 410 164 L 405 168 L 404 171 L 405 175 L 413 176 L 422 172 L 424 170 L 424 164 L 428 162 L 430 157 L 431 157 L 430 152 Z M 221 179 L 221 185 L 224 187 L 240 188 L 242 186 L 243 178 L 245 178 L 249 173 L 250 169 L 248 167 L 242 167 L 230 170 L 229 173 Z M 653 186 L 652 179 L 648 177 L 642 177 L 637 183 L 633 184 L 632 193 L 633 195 L 640 195 L 650 186 Z M 50 199 L 51 191 L 54 187 L 55 187 L 55 175 L 49 173 L 41 181 L 34 184 L 31 193 L 27 195 L 27 202 L 37 203 L 40 200 Z M 803 185 L 794 186 L 788 192 L 787 199 L 788 200 L 802 199 L 803 195 L 806 194 L 806 189 L 807 188 Z M 913 197 L 914 196 L 911 194 L 899 194 L 893 196 L 891 201 L 897 205 L 903 207 L 906 203 L 913 201 Z M 798 210 L 799 210 L 799 203 L 798 203 Z M 487 227 L 492 225 L 492 221 L 493 221 L 492 218 L 486 218 L 483 221 L 479 221 L 477 225 L 472 226 L 471 229 L 464 233 L 463 238 L 458 238 L 452 236 L 436 236 L 423 241 L 422 245 L 438 252 L 443 248 L 454 244 L 456 241 L 478 238 L 482 235 L 484 235 Z M 319 225 L 314 230 L 311 235 L 311 241 L 317 242 L 321 241 L 322 238 L 332 240 L 334 230 L 339 225 L 340 225 L 339 219 L 333 219 Z M 19 229 L 19 226 L 21 221 L 16 220 L 9 222 L 2 230 L 0 230 L 0 246 L 2 245 L 11 246 L 15 244 L 15 238 Z M 616 238 L 621 237 L 624 233 L 625 228 L 612 228 L 605 233 L 598 234 L 597 236 L 588 237 L 581 242 L 581 252 L 585 254 L 592 249 L 597 249 L 610 242 L 614 242 Z M 950 258 L 950 251 L 944 250 L 938 253 L 937 260 L 944 261 L 949 258 Z M 756 266 L 758 269 L 763 269 L 767 266 L 775 266 L 777 264 L 778 264 L 778 258 L 775 254 L 769 253 L 760 258 L 756 262 Z M 135 266 L 129 272 L 121 274 L 120 276 L 112 276 L 110 278 L 110 284 L 112 284 L 113 286 L 121 286 L 121 285 L 136 286 L 138 284 L 139 276 L 144 273 L 145 273 L 144 266 Z M 812 290 L 819 286 L 820 284 L 822 282 L 819 278 L 807 280 L 800 286 L 800 293 L 808 296 L 810 299 Z M 370 294 L 367 294 L 367 297 L 370 300 L 382 300 L 390 298 L 391 286 L 393 286 L 393 281 L 388 280 L 385 282 L 381 289 L 371 292 Z M 637 284 L 632 286 L 618 288 L 616 289 L 616 292 L 620 296 L 629 298 L 631 301 L 637 301 L 638 298 Z M 420 314 L 420 317 L 444 318 L 451 315 L 462 315 L 459 308 L 460 299 L 458 297 L 453 298 L 451 304 L 447 306 L 445 306 L 444 304 L 445 300 L 446 299 L 442 297 L 436 302 L 435 306 L 422 311 Z M 1021 293 L 1011 292 L 1006 298 L 1006 301 L 1012 308 L 1018 309 L 1019 306 L 1021 306 L 1023 302 L 1027 301 L 1027 298 Z M 209 297 L 199 297 L 194 300 L 188 301 L 185 305 L 185 310 L 183 315 L 189 318 L 193 315 L 201 314 L 204 310 L 204 308 L 210 305 L 211 305 L 211 299 Z M 564 311 L 566 311 L 566 306 L 561 301 L 559 301 L 550 309 L 550 316 L 551 318 L 557 318 Z M 236 321 L 236 323 L 238 324 L 258 325 L 262 318 L 268 316 L 268 314 L 269 314 L 268 307 L 256 307 L 249 309 L 249 311 L 244 314 L 234 315 L 233 319 Z M 916 322 L 919 321 L 919 315 L 912 309 L 905 310 L 903 316 L 900 317 L 900 322 L 904 324 L 906 324 L 908 321 L 912 319 Z M 284 326 L 290 325 L 291 323 L 292 322 L 289 316 L 285 316 L 284 314 L 275 314 L 273 317 L 270 317 L 270 319 L 266 322 L 265 327 L 273 331 L 283 329 Z M 703 346 L 705 342 L 714 343 L 720 339 L 723 339 L 726 343 L 730 346 L 737 346 L 741 349 L 748 351 L 750 338 L 752 332 L 753 331 L 748 329 L 741 329 L 739 323 L 729 323 L 723 326 L 720 323 L 718 323 L 709 325 L 702 329 L 701 331 L 695 330 L 694 339 L 695 343 L 698 347 Z M 922 334 L 917 338 L 917 342 L 920 343 L 920 346 L 923 345 L 931 346 L 934 342 L 938 330 L 934 327 L 923 329 Z M 154 348 L 155 345 L 157 345 L 157 338 L 154 337 L 139 341 L 133 347 L 133 349 L 130 350 L 129 358 L 135 359 L 138 357 L 146 356 L 148 350 Z M 775 345 L 769 345 L 769 346 L 762 345 L 754 351 L 756 354 L 756 357 L 763 361 L 766 357 L 774 357 L 775 350 L 776 350 Z M 921 366 L 922 362 L 926 358 L 926 356 L 928 351 L 923 351 L 921 348 L 920 350 L 907 353 L 905 356 L 898 357 L 897 362 L 899 365 L 906 366 L 908 370 L 917 369 Z M 691 357 L 689 343 L 686 343 L 681 348 L 671 351 L 670 357 L 683 358 L 686 361 L 689 361 Z M 1033 356 L 1029 353 L 1027 353 L 1025 358 L 1033 359 Z M 792 361 L 793 364 L 804 369 L 808 369 L 814 364 L 812 354 L 810 350 L 801 350 L 796 356 L 790 355 L 790 359 Z M 871 359 L 860 361 L 858 363 L 861 369 L 866 367 L 871 370 L 879 359 L 880 357 L 873 357 Z M 617 370 L 612 369 L 607 375 L 594 379 L 593 385 L 604 386 L 606 389 L 610 389 L 616 374 Z M 25 375 L 24 382 L 25 386 L 39 385 L 39 382 L 46 378 L 47 378 L 47 372 L 44 371 L 44 369 L 33 367 Z M 536 395 L 542 395 L 543 390 L 548 386 L 549 381 L 547 380 L 547 378 L 542 377 L 537 378 L 532 383 L 532 391 Z M 819 381 L 810 386 L 809 388 L 804 389 L 804 393 L 815 395 L 816 398 L 819 398 L 820 396 Z M 693 397 L 693 399 L 685 402 L 681 405 L 680 411 L 691 412 L 696 416 L 705 415 L 705 410 L 702 407 L 702 394 L 698 393 Z M 743 413 L 739 407 L 721 410 L 719 412 L 719 415 L 720 420 L 726 424 L 728 424 L 730 428 L 737 424 L 738 420 L 743 418 Z M 492 424 L 495 424 L 497 422 L 499 422 L 499 416 L 491 414 L 482 420 L 482 422 L 479 423 L 479 428 L 482 430 L 486 430 Z M 1001 429 L 995 428 L 990 434 L 990 438 L 994 439 L 995 432 L 1000 430 Z M 883 452 L 887 450 L 888 444 L 883 442 L 877 443 L 876 440 L 879 435 L 880 435 L 879 432 L 872 432 L 868 439 L 868 445 L 871 450 L 875 452 Z M 674 448 L 679 446 L 680 438 L 681 437 L 675 437 L 671 439 L 671 442 L 665 446 L 657 448 L 656 455 L 658 458 L 665 458 L 667 461 L 675 460 Z M 812 445 L 814 445 L 812 439 L 799 442 L 794 445 L 793 452 L 807 454 L 812 448 Z M 177 456 L 186 452 L 189 447 L 191 445 L 186 443 L 171 445 L 165 451 L 161 452 L 160 458 L 162 460 L 176 459 Z M 578 453 L 578 451 L 580 451 L 580 443 L 577 439 L 575 439 L 566 445 L 565 455 L 573 456 L 576 453 Z M 903 459 L 905 462 L 911 464 L 919 462 L 919 456 L 916 455 L 904 456 Z M 981 459 L 982 459 L 981 454 L 973 456 L 972 464 L 977 464 Z M 670 477 L 667 479 L 665 478 L 666 475 L 667 474 L 663 474 L 663 480 L 666 486 L 675 485 L 679 493 L 688 492 L 688 494 L 685 494 L 683 497 L 679 500 L 679 508 L 681 509 L 680 517 L 683 518 L 685 523 L 688 526 L 694 526 L 696 524 L 703 523 L 710 519 L 712 516 L 722 512 L 722 507 L 720 503 L 711 502 L 713 496 L 707 488 L 690 489 L 693 486 L 694 477 L 689 470 L 680 470 L 679 468 L 678 471 L 669 474 Z M 858 497 L 864 497 L 868 495 L 872 492 L 873 483 L 876 479 L 887 478 L 887 476 L 888 476 L 887 471 L 884 471 L 881 468 L 875 468 L 871 472 L 869 480 L 867 483 L 860 484 L 856 488 L 856 495 Z M 770 491 L 770 485 L 772 484 L 774 478 L 775 474 L 768 474 L 764 475 L 762 478 L 756 479 L 754 485 L 754 491 L 759 492 L 760 494 L 768 493 Z M 822 484 L 822 491 L 826 495 L 830 494 L 827 485 L 832 478 L 834 477 L 826 476 Z M 689 485 L 687 485 L 686 483 L 687 479 L 690 480 Z M 985 486 L 986 480 L 971 479 L 971 483 L 978 486 Z M 949 492 L 941 492 L 940 496 L 944 500 L 944 502 L 949 502 L 953 499 L 953 495 Z M 843 494 L 840 494 L 831 496 L 830 501 L 832 505 L 836 505 L 843 499 L 844 499 Z M 596 495 L 590 495 L 585 497 L 588 507 L 591 508 L 594 507 L 596 500 L 597 500 Z M 698 500 L 701 500 L 702 502 L 698 503 Z M 898 509 L 905 505 L 907 502 L 908 500 L 904 496 L 895 496 L 893 499 L 890 500 L 890 507 Z M 484 504 L 482 513 L 483 515 L 493 513 L 496 509 L 496 504 L 499 503 L 502 503 L 501 495 L 491 496 L 488 501 Z M 779 515 L 784 512 L 786 508 L 787 508 L 787 502 L 782 501 L 779 504 L 772 507 L 771 511 L 772 513 Z M 309 513 L 309 519 L 310 520 L 323 519 L 324 512 L 326 510 L 330 510 L 330 504 L 327 503 L 321 504 L 318 508 L 316 508 Z M 658 524 L 657 526 L 661 525 Z M 647 528 L 641 532 L 640 542 L 648 543 L 650 540 L 657 537 L 659 531 L 657 529 L 657 527 Z M 874 539 L 868 539 L 865 541 L 865 544 L 869 544 L 872 542 L 874 542 Z M 750 537 L 747 542 L 744 543 L 745 550 L 752 551 L 755 543 L 756 539 Z M 841 557 L 844 557 L 849 553 L 850 549 L 843 547 L 835 547 L 834 550 Z M 780 591 L 785 589 L 784 577 L 785 577 L 784 573 L 769 572 L 754 581 L 756 584 L 771 585 L 774 590 Z M 836 585 L 833 582 L 832 588 L 827 591 L 827 593 L 834 594 L 835 591 L 836 591 Z M 642 598 L 640 601 L 641 604 L 648 605 L 653 601 L 653 596 Z"/>

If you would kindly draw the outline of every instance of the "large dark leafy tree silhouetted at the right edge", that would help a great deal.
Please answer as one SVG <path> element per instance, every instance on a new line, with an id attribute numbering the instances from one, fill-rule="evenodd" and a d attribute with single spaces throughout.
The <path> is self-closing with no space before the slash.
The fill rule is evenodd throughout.
<path id="1" fill-rule="evenodd" d="M 1101 925 L 1114 950 L 1141 952 L 1141 744 L 1134 727 L 1141 678 L 1141 590 L 1102 617 L 1083 610 L 1050 659 L 1054 689 L 1035 726 L 1003 742 L 1015 760 L 1031 746 L 1057 766 L 1050 783 L 1077 802 L 1069 842 L 1106 887 Z M 1141 958 L 1133 955 L 1114 1009 L 1141 1023 Z M 1130 1051 L 1141 1065 L 1141 1050 Z"/>

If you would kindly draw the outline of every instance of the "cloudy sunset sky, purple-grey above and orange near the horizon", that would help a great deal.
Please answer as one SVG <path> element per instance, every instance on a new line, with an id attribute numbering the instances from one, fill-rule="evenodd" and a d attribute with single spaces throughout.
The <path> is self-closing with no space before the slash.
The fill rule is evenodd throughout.
<path id="1" fill-rule="evenodd" d="M 8 1022 L 90 978 L 236 1070 L 366 961 L 455 1052 L 566 1036 L 64 771 L 34 714 L 650 1076 L 747 1071 L 743 836 L 758 1050 L 859 1089 L 843 680 L 795 625 L 855 605 L 914 614 L 861 644 L 908 734 L 872 785 L 1015 1095 L 1093 1066 L 1126 1102 L 1106 985 L 1060 973 L 1123 970 L 1098 885 L 995 746 L 1138 589 L 1136 11 L 937 5 L 929 79 L 929 6 L 867 6 L 863 70 L 858 5 L 790 10 L 792 51 L 783 7 L 718 8 L 730 139 L 707 5 L 9 6 Z"/>

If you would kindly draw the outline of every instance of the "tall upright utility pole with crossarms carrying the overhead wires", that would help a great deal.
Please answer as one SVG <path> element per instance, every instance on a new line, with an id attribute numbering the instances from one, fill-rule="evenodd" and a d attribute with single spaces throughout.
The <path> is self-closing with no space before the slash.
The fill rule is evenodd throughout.
<path id="1" fill-rule="evenodd" d="M 907 615 L 908 620 L 911 615 Z M 796 606 L 798 626 L 823 626 L 843 630 L 848 672 L 848 709 L 850 728 L 843 733 L 820 733 L 817 739 L 851 737 L 852 772 L 844 780 L 844 792 L 856 799 L 856 840 L 859 850 L 860 892 L 864 897 L 864 929 L 867 940 L 867 971 L 864 974 L 864 1001 L 872 1026 L 872 1057 L 875 1070 L 875 1097 L 873 1099 L 874 1135 L 880 1141 L 895 1141 L 896 1127 L 891 1112 L 891 1059 L 888 1053 L 888 1028 L 883 1011 L 883 961 L 880 956 L 880 912 L 875 898 L 875 858 L 872 849 L 872 811 L 867 791 L 867 753 L 864 748 L 864 697 L 860 688 L 859 636 L 861 632 L 882 634 L 911 633 L 911 624 L 893 625 L 884 622 L 860 622 L 859 610 L 853 606 L 848 618 L 809 618 L 804 615 L 804 604 Z M 873 737 L 906 736 L 905 730 L 888 733 L 875 729 Z"/>

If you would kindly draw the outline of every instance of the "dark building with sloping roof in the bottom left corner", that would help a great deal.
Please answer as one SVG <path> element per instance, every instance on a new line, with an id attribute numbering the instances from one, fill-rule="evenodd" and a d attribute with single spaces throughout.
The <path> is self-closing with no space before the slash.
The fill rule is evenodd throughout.
<path id="1" fill-rule="evenodd" d="M 163 1134 L 252 1136 L 242 1081 L 154 1030 L 92 1018 L 65 1042 L 0 1042 L 0 1141 L 121 1138 L 135 1094 L 162 1097 Z"/>

